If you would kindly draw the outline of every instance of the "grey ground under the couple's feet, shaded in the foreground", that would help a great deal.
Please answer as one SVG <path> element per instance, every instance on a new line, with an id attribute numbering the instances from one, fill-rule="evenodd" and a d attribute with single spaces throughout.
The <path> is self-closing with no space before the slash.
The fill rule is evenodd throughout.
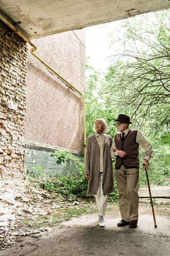
<path id="1" fill-rule="evenodd" d="M 105 227 L 97 216 L 86 215 L 49 229 L 40 240 L 25 238 L 22 243 L 1 251 L 2 256 L 167 256 L 170 253 L 170 218 L 140 215 L 138 227 L 117 227 L 118 212 L 107 212 Z"/>

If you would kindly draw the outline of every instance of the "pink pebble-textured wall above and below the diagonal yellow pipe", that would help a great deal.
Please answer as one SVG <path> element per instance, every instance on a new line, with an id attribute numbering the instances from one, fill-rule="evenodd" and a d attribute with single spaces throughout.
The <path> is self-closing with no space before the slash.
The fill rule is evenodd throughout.
<path id="1" fill-rule="evenodd" d="M 36 54 L 85 92 L 85 30 L 35 39 Z M 83 152 L 82 97 L 28 56 L 25 142 Z"/>

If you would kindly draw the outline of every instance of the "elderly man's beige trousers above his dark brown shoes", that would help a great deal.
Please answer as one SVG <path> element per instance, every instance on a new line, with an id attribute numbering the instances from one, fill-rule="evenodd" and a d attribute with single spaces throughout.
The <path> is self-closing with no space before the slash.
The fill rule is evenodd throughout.
<path id="1" fill-rule="evenodd" d="M 129 222 L 138 219 L 139 206 L 139 169 L 116 170 L 116 184 L 119 192 L 119 209 L 122 219 Z"/>

